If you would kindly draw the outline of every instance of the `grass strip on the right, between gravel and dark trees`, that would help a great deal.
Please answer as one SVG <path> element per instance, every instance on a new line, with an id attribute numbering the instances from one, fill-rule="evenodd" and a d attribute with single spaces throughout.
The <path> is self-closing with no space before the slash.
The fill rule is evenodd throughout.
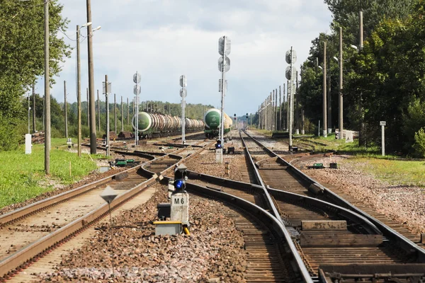
<path id="1" fill-rule="evenodd" d="M 271 137 L 271 131 L 258 130 L 261 134 Z M 358 140 L 346 143 L 344 140 L 335 139 L 334 134 L 328 137 L 311 137 L 298 140 L 295 136 L 294 144 L 306 142 L 314 146 L 315 151 L 336 150 L 338 154 L 348 154 L 342 162 L 365 163 L 359 170 L 372 173 L 376 178 L 385 180 L 390 185 L 414 185 L 425 187 L 425 161 L 409 160 L 400 156 L 381 156 L 380 146 L 365 148 L 358 145 Z M 313 143 L 313 142 L 314 143 Z M 326 146 L 321 145 L 326 144 Z"/>

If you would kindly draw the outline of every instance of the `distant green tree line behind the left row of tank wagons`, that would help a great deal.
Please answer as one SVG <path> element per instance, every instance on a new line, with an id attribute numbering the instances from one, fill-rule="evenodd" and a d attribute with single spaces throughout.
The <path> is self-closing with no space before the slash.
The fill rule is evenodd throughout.
<path id="1" fill-rule="evenodd" d="M 33 99 L 35 98 L 35 108 L 33 107 Z M 28 98 L 27 98 L 28 99 Z M 28 100 L 22 100 L 22 108 L 28 111 Z M 40 94 L 35 93 L 29 97 L 30 100 L 30 132 L 39 132 L 44 129 L 44 116 L 43 116 L 43 103 L 44 99 Z M 112 100 L 112 103 L 111 103 Z M 100 103 L 100 104 L 98 104 Z M 109 129 L 111 132 L 133 131 L 132 129 L 132 117 L 135 115 L 135 103 L 127 100 L 123 100 L 123 106 L 121 107 L 121 98 L 116 98 L 116 123 L 115 123 L 115 103 L 113 103 L 113 96 L 109 98 Z M 99 107 L 99 108 L 98 108 Z M 186 104 L 186 117 L 191 119 L 203 120 L 204 112 L 212 108 L 212 105 L 202 104 Z M 100 109 L 100 127 L 99 127 L 99 113 Z M 52 137 L 60 138 L 65 137 L 65 112 L 64 103 L 58 103 L 55 98 L 50 100 L 50 115 L 51 115 L 51 127 Z M 181 105 L 180 103 L 168 103 L 162 101 L 143 101 L 140 103 L 140 111 L 154 112 L 165 115 L 172 115 L 181 117 Z M 35 111 L 35 113 L 34 113 Z M 35 120 L 33 119 L 35 114 Z M 89 137 L 90 127 L 88 116 L 88 103 L 87 101 L 81 101 L 81 135 L 82 137 Z M 68 121 L 68 136 L 77 137 L 78 134 L 78 105 L 77 102 L 67 103 L 67 121 Z M 116 125 L 116 129 L 115 129 Z M 23 134 L 28 132 L 28 115 L 23 121 L 21 121 L 18 132 Z M 106 102 L 96 100 L 96 134 L 98 137 L 102 137 L 106 133 Z"/>

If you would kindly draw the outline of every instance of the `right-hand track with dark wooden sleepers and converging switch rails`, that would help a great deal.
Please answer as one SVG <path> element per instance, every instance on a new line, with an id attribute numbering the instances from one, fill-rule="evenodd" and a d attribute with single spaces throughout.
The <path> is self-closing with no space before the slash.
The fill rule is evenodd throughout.
<path id="1" fill-rule="evenodd" d="M 254 142 L 271 156 L 253 163 L 253 170 L 275 199 L 310 275 L 320 282 L 353 282 L 350 280 L 359 278 L 421 282 L 425 277 L 425 250 L 410 241 L 409 235 L 402 236 L 404 231 L 396 231 L 355 207 L 247 136 L 249 144 Z M 346 229 L 303 229 L 305 220 L 345 220 Z"/>

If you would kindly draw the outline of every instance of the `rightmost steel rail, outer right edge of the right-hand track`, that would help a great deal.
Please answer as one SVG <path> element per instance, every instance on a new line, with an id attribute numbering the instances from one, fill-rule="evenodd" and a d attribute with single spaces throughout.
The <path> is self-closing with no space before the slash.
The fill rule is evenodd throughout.
<path id="1" fill-rule="evenodd" d="M 250 134 L 246 133 L 245 134 L 249 137 L 251 137 Z M 256 140 L 254 137 L 251 137 L 251 139 L 253 139 L 256 144 L 259 144 L 260 146 L 263 146 L 263 144 L 261 144 L 260 141 Z M 347 209 L 350 209 L 353 212 L 356 212 L 357 214 L 360 214 L 362 216 L 365 216 L 365 218 L 367 218 L 368 220 L 370 220 L 373 224 L 375 224 L 375 226 L 378 227 L 378 229 L 380 229 L 380 231 L 382 231 L 382 233 L 385 236 L 389 236 L 389 238 L 392 238 L 393 241 L 396 241 L 399 246 L 401 248 L 403 248 L 404 250 L 407 250 L 409 252 L 414 251 L 414 253 L 416 253 L 418 260 L 424 261 L 425 260 L 425 250 L 423 248 L 420 248 L 419 246 L 416 245 L 416 243 L 410 241 L 408 238 L 404 237 L 402 234 L 398 233 L 397 231 L 395 231 L 394 229 L 390 228 L 389 226 L 387 226 L 386 224 L 382 223 L 381 221 L 379 221 L 378 219 L 375 219 L 375 217 L 370 216 L 370 214 L 364 212 L 361 209 L 358 209 L 358 207 L 355 207 L 353 204 L 351 204 L 350 202 L 347 202 L 346 200 L 344 200 L 342 197 L 340 197 L 339 195 L 336 195 L 334 192 L 332 192 L 331 190 L 329 190 L 327 187 L 324 187 L 323 185 L 317 183 L 317 181 L 313 180 L 312 178 L 310 178 L 309 176 L 307 176 L 305 173 L 302 173 L 302 171 L 298 170 L 297 168 L 295 168 L 295 166 L 293 166 L 292 164 L 288 163 L 288 161 L 285 161 L 283 158 L 281 158 L 280 156 L 278 156 L 278 154 L 275 154 L 271 149 L 268 149 L 266 146 L 263 146 L 264 149 L 266 149 L 268 152 L 270 152 L 271 154 L 273 154 L 274 156 L 276 156 L 278 158 L 278 161 L 280 163 L 282 163 L 284 166 L 288 166 L 288 170 L 292 171 L 293 173 L 295 173 L 295 175 L 298 175 L 299 178 L 302 178 L 302 180 L 305 180 L 305 182 L 307 182 L 309 185 L 317 185 L 318 187 L 321 187 L 322 190 L 324 191 L 324 195 L 329 197 L 330 200 L 334 201 L 335 204 L 341 206 L 341 207 L 345 207 Z"/>

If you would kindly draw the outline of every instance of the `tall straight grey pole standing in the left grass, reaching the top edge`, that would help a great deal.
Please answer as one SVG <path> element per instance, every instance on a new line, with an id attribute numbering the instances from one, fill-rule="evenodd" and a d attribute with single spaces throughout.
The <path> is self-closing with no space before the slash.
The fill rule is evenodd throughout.
<path id="1" fill-rule="evenodd" d="M 45 1 L 45 173 L 50 174 L 50 51 L 49 1 Z"/>

